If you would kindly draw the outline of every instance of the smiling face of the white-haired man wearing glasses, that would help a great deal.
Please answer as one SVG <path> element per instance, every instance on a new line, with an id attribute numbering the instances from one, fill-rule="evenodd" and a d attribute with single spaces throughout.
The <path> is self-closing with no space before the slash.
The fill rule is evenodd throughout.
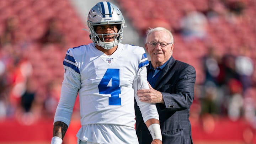
<path id="1" fill-rule="evenodd" d="M 152 65 L 158 67 L 171 57 L 174 44 L 167 32 L 155 31 L 148 36 L 145 48 L 150 55 Z"/>

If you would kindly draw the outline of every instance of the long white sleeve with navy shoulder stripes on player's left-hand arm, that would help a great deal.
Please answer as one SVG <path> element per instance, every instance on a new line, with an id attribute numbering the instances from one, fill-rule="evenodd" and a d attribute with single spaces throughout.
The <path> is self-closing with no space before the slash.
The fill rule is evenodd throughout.
<path id="1" fill-rule="evenodd" d="M 69 126 L 75 100 L 81 85 L 79 68 L 75 63 L 72 49 L 67 51 L 63 65 L 65 70 L 64 80 L 54 122 L 61 121 Z"/>

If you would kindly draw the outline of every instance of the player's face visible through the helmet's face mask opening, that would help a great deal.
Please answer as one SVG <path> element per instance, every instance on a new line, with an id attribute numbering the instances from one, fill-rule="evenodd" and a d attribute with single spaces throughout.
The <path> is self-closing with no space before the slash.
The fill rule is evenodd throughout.
<path id="1" fill-rule="evenodd" d="M 109 35 L 105 35 L 103 36 L 104 41 L 105 42 L 112 42 L 114 41 L 114 34 L 111 33 L 117 33 L 118 29 L 117 29 L 117 25 L 100 25 L 100 26 L 96 26 L 96 30 L 95 32 L 97 34 L 109 34 Z M 101 41 L 103 41 L 102 35 L 99 35 Z"/>

